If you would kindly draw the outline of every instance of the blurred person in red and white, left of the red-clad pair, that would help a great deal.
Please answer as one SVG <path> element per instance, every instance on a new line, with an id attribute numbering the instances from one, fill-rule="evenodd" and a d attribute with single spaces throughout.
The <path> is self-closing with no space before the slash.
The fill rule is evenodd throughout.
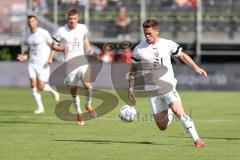
<path id="1" fill-rule="evenodd" d="M 111 50 L 111 44 L 109 43 L 104 43 L 102 51 L 99 53 L 99 58 L 104 62 L 104 63 L 111 63 L 114 60 L 114 53 Z"/>

